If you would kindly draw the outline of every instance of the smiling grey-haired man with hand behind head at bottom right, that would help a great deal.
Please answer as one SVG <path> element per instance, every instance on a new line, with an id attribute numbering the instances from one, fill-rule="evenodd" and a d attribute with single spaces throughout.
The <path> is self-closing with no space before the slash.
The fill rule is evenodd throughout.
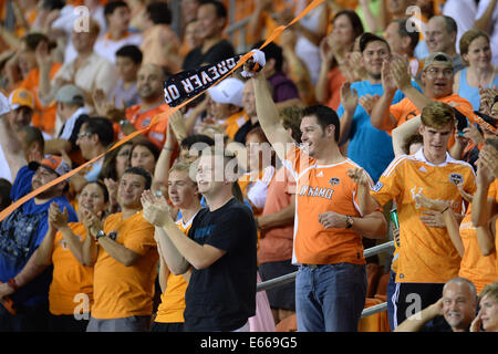
<path id="1" fill-rule="evenodd" d="M 394 332 L 468 332 L 476 308 L 473 282 L 454 278 L 445 284 L 436 303 L 406 319 Z"/>

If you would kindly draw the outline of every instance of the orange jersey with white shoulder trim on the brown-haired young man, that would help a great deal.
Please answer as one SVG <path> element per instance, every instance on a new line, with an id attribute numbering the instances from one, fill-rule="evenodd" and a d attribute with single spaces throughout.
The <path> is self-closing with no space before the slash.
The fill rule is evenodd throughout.
<path id="1" fill-rule="evenodd" d="M 457 184 L 474 194 L 475 174 L 470 165 L 453 159 L 438 166 L 428 163 L 423 148 L 414 155 L 402 155 L 387 166 L 371 191 L 384 205 L 394 199 L 400 219 L 400 257 L 396 282 L 444 283 L 458 275 L 460 257 L 445 228 L 429 228 L 421 221 L 425 210 L 415 195 L 447 200 L 455 212 L 461 212 L 463 199 Z"/>

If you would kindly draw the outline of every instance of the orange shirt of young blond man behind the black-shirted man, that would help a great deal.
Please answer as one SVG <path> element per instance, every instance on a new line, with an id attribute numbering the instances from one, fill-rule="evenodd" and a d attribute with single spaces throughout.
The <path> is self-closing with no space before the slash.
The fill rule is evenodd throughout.
<path id="1" fill-rule="evenodd" d="M 191 217 L 191 219 L 187 223 L 184 223 L 184 219 L 177 220 L 176 225 L 181 230 L 181 232 L 188 235 L 194 218 L 195 216 Z M 188 283 L 185 281 L 183 275 L 175 275 L 173 273 L 169 273 L 166 283 L 166 291 L 160 295 L 160 304 L 157 308 L 157 316 L 154 322 L 185 322 L 185 292 L 187 291 L 187 287 Z"/>

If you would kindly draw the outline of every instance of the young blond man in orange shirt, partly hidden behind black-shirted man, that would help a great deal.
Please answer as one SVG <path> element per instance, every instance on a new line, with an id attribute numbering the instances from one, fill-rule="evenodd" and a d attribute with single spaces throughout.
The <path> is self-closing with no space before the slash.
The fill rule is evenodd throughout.
<path id="1" fill-rule="evenodd" d="M 169 170 L 168 178 L 169 199 L 173 206 L 179 208 L 181 212 L 181 218 L 176 220 L 176 225 L 185 235 L 188 235 L 194 218 L 201 208 L 197 184 L 188 175 L 189 168 L 190 165 L 186 163 L 175 164 Z M 165 206 L 166 200 L 154 197 L 151 191 L 144 192 L 142 204 L 145 215 L 147 215 L 148 209 L 155 202 L 163 202 Z M 160 304 L 151 331 L 183 332 L 185 322 L 185 291 L 187 290 L 187 281 L 190 278 L 190 272 L 183 275 L 172 273 L 165 260 L 168 257 L 167 252 L 165 252 L 167 250 L 165 242 L 168 240 L 162 228 L 156 227 L 155 238 L 160 256 L 159 283 L 160 288 L 163 290 L 166 288 L 166 290 L 160 295 Z"/>

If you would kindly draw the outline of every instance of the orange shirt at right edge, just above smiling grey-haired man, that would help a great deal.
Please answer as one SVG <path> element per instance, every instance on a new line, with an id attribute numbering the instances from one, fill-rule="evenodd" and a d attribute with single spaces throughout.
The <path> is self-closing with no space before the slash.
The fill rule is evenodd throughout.
<path id="1" fill-rule="evenodd" d="M 498 280 L 498 272 L 496 270 L 496 251 L 489 256 L 483 256 L 476 232 L 471 221 L 470 205 L 460 223 L 460 237 L 465 252 L 458 277 L 470 280 L 476 285 L 477 293 L 479 293 L 484 287 Z"/>

